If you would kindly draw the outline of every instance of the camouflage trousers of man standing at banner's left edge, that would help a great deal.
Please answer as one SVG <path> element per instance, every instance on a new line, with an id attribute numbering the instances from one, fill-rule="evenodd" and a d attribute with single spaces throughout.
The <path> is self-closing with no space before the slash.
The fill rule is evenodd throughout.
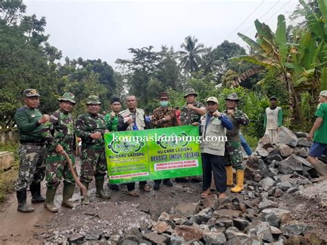
<path id="1" fill-rule="evenodd" d="M 104 148 L 90 149 L 82 147 L 81 181 L 92 182 L 106 175 L 107 162 Z"/>

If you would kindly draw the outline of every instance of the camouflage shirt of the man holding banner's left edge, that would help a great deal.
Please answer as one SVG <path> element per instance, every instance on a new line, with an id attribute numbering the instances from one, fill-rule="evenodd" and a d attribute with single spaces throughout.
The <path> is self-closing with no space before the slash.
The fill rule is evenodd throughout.
<path id="1" fill-rule="evenodd" d="M 101 133 L 103 136 L 106 130 L 106 121 L 103 119 L 103 115 L 91 115 L 86 112 L 79 115 L 75 121 L 75 133 L 77 137 L 82 140 L 82 146 L 89 148 L 90 146 L 103 146 L 104 140 L 92 139 L 90 135 L 92 133 Z"/>

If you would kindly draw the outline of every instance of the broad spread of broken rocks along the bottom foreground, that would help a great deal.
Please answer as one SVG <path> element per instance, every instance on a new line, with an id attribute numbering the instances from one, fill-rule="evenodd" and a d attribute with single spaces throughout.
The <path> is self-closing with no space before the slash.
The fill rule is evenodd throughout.
<path id="1" fill-rule="evenodd" d="M 261 204 L 261 202 L 259 203 Z M 161 213 L 146 231 L 133 228 L 118 244 L 284 244 L 294 240 L 319 241 L 312 227 L 290 222 L 290 211 L 254 205 L 239 198 L 210 195 L 197 203 L 181 203 Z M 112 243 L 111 243 L 112 244 Z M 319 244 L 319 243 L 318 243 Z M 321 241 L 321 244 L 322 241 Z"/>

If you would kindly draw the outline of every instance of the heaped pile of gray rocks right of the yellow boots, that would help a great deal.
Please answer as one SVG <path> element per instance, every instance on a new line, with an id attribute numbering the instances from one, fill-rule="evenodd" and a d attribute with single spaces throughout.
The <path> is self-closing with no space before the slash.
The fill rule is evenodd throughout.
<path id="1" fill-rule="evenodd" d="M 245 163 L 247 198 L 259 197 L 265 191 L 269 196 L 281 197 L 312 184 L 311 179 L 318 176 L 306 159 L 312 144 L 306 136 L 281 127 L 279 144 L 271 144 L 266 135 L 260 139 L 257 157 L 251 156 Z"/>

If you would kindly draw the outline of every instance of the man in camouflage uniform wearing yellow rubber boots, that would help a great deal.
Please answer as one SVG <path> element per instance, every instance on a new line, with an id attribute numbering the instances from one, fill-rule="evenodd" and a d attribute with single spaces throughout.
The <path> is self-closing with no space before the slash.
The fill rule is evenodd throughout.
<path id="1" fill-rule="evenodd" d="M 228 95 L 226 100 L 225 113 L 232 122 L 232 130 L 227 130 L 227 142 L 225 145 L 225 157 L 226 157 L 226 174 L 227 174 L 227 186 L 232 186 L 232 168 L 236 169 L 236 180 L 237 184 L 230 190 L 233 193 L 239 193 L 243 190 L 244 182 L 244 169 L 242 164 L 242 152 L 241 152 L 241 141 L 239 138 L 239 126 L 247 126 L 249 123 L 248 116 L 241 110 L 237 109 L 239 99 L 237 94 L 232 93 Z"/>

